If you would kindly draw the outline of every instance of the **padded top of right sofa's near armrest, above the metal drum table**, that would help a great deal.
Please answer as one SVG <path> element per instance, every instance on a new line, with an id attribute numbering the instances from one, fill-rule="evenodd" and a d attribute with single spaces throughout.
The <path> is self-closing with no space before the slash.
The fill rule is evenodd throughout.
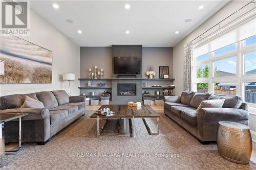
<path id="1" fill-rule="evenodd" d="M 201 108 L 198 111 L 198 120 L 248 120 L 249 112 L 237 108 Z"/>

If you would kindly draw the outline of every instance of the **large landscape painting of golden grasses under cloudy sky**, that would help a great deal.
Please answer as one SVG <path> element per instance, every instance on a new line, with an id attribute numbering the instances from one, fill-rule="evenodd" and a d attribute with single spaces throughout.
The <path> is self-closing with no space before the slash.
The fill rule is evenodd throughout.
<path id="1" fill-rule="evenodd" d="M 0 37 L 1 84 L 52 83 L 52 51 L 15 36 Z"/>

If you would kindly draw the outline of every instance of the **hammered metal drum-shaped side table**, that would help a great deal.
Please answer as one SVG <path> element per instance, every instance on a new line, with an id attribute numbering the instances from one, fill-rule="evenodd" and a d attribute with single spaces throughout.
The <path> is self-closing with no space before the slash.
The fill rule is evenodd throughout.
<path id="1" fill-rule="evenodd" d="M 252 152 L 249 127 L 236 122 L 219 122 L 217 146 L 223 158 L 241 164 L 249 163 Z"/>

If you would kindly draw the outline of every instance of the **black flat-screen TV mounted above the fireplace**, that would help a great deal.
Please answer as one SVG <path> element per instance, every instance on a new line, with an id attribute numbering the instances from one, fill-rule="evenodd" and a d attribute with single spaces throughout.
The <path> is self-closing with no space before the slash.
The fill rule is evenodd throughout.
<path id="1" fill-rule="evenodd" d="M 114 57 L 114 74 L 140 74 L 141 58 Z"/>

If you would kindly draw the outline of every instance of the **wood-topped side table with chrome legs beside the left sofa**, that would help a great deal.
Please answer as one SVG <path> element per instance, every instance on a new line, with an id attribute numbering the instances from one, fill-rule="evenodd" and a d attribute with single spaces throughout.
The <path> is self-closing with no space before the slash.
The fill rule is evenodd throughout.
<path id="1" fill-rule="evenodd" d="M 28 113 L 0 113 L 0 123 L 2 131 L 0 131 L 1 146 L 0 146 L 0 166 L 5 166 L 5 154 L 15 154 L 20 148 L 22 148 L 22 117 L 28 115 Z M 15 151 L 5 151 L 5 122 L 18 118 L 18 146 Z"/>

